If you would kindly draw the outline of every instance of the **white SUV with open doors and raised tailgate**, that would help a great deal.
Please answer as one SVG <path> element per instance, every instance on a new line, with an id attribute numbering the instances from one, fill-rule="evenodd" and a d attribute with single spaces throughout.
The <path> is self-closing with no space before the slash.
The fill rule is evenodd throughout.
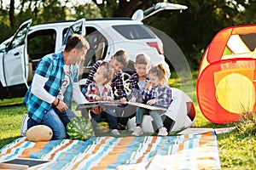
<path id="1" fill-rule="evenodd" d="M 125 48 L 130 64 L 123 71 L 131 75 L 136 55 L 146 53 L 151 64 L 163 64 L 169 71 L 159 37 L 141 21 L 150 14 L 164 9 L 182 10 L 187 7 L 172 3 L 157 3 L 144 13 L 138 10 L 132 19 L 94 19 L 60 21 L 31 26 L 32 20 L 24 22 L 13 37 L 0 44 L 0 99 L 23 97 L 38 61 L 45 54 L 63 49 L 69 35 L 79 33 L 90 42 L 86 59 L 80 63 L 80 78 L 84 79 L 98 59 L 110 59 L 119 48 Z M 148 13 L 148 11 L 150 13 Z M 146 14 L 146 15 L 145 15 Z M 85 34 L 86 32 L 86 34 Z M 125 77 L 127 80 L 128 77 Z M 127 89 L 128 90 L 128 89 Z"/>

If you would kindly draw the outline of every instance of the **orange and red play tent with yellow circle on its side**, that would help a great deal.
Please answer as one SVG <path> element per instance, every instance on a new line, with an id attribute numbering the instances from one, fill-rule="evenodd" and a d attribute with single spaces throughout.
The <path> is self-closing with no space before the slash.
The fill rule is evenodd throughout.
<path id="1" fill-rule="evenodd" d="M 236 122 L 255 111 L 256 25 L 219 31 L 198 72 L 196 94 L 202 114 L 215 123 Z"/>

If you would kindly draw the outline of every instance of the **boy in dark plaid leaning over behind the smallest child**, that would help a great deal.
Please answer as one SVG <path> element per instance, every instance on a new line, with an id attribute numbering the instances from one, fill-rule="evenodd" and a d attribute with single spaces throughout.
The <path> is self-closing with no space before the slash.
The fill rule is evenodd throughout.
<path id="1" fill-rule="evenodd" d="M 92 69 L 90 70 L 90 74 L 85 82 L 84 88 L 82 89 L 82 93 L 86 93 L 86 89 L 90 82 L 93 81 L 93 76 L 96 73 L 97 68 L 101 65 L 102 60 L 98 60 L 96 64 L 93 65 Z M 123 80 L 123 72 L 122 69 L 125 68 L 129 63 L 129 56 L 124 49 L 119 49 L 110 60 L 107 61 L 110 68 L 113 69 L 114 75 L 111 82 L 111 88 L 117 89 L 119 94 L 119 99 L 121 102 L 126 101 L 126 93 L 124 87 L 124 80 Z"/>

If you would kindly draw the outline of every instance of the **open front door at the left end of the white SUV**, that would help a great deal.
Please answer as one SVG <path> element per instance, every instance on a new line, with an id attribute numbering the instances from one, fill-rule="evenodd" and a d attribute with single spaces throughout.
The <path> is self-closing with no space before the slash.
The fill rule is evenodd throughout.
<path id="1" fill-rule="evenodd" d="M 7 45 L 6 52 L 3 54 L 3 87 L 26 84 L 28 71 L 26 37 L 31 24 L 32 19 L 22 23 Z"/>

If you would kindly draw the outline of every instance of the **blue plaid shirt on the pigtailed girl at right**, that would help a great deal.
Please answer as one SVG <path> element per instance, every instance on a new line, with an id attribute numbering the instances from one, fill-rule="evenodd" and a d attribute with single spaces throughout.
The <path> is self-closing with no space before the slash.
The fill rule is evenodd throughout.
<path id="1" fill-rule="evenodd" d="M 147 103 L 149 99 L 156 99 L 154 106 L 168 108 L 172 103 L 172 88 L 166 85 L 162 85 L 159 88 L 152 88 L 149 90 L 143 90 L 143 103 Z"/>

